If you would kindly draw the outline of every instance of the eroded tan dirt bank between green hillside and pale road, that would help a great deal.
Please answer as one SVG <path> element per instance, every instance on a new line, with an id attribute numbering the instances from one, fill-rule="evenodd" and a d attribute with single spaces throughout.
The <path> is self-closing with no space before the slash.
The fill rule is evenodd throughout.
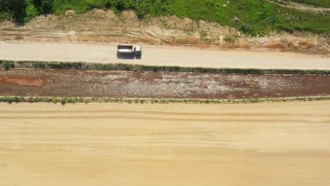
<path id="1" fill-rule="evenodd" d="M 225 42 L 225 37 L 236 38 Z M 0 23 L 0 40 L 32 42 L 145 43 L 188 45 L 216 49 L 268 49 L 281 51 L 317 51 L 329 54 L 330 40 L 312 33 L 270 33 L 265 37 L 247 37 L 234 28 L 204 20 L 167 16 L 146 18 L 139 27 L 133 11 L 116 15 L 94 9 L 83 14 L 37 16 L 24 27 Z M 307 45 L 300 45 L 306 42 Z"/>

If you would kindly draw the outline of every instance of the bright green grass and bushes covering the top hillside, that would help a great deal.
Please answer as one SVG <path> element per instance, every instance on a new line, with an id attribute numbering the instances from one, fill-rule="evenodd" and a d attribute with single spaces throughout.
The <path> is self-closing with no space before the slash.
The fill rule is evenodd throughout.
<path id="1" fill-rule="evenodd" d="M 329 7 L 329 0 L 295 0 Z M 226 5 L 226 6 L 224 6 Z M 138 18 L 176 15 L 236 27 L 247 35 L 265 35 L 271 30 L 330 32 L 329 12 L 302 12 L 264 0 L 0 0 L 0 19 L 25 23 L 42 13 L 84 13 L 92 8 L 111 8 L 116 13 L 136 11 Z M 236 22 L 232 18 L 239 18 Z"/>

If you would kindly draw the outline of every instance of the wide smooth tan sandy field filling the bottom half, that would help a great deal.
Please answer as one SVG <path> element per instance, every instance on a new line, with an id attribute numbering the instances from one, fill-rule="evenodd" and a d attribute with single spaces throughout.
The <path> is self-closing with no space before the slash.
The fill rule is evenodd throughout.
<path id="1" fill-rule="evenodd" d="M 0 104 L 0 185 L 330 185 L 330 101 Z"/>

